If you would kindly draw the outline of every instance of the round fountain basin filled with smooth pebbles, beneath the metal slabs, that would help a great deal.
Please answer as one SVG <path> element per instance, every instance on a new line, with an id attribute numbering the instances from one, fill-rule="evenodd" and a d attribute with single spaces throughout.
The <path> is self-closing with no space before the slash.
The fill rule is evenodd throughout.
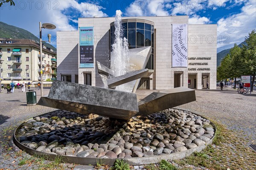
<path id="1" fill-rule="evenodd" d="M 30 154 L 76 164 L 130 165 L 175 160 L 201 151 L 212 142 L 215 125 L 195 113 L 167 109 L 128 122 L 96 114 L 53 111 L 21 124 L 14 142 Z"/>

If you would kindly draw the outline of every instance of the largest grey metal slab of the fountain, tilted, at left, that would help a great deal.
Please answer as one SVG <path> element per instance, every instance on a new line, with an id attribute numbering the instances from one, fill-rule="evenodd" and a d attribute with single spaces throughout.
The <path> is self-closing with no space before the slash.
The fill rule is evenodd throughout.
<path id="1" fill-rule="evenodd" d="M 48 99 L 54 99 L 60 103 L 65 101 L 63 105 L 78 107 L 87 113 L 116 119 L 128 120 L 139 112 L 137 96 L 134 93 L 72 82 L 55 80 Z M 52 103 L 48 102 L 48 104 L 54 107 Z"/>

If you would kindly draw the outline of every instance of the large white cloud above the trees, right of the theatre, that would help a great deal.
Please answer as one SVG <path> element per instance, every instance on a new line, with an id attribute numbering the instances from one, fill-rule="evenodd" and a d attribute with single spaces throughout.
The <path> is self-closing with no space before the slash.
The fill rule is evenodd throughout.
<path id="1" fill-rule="evenodd" d="M 241 13 L 218 20 L 218 51 L 241 43 L 244 37 L 256 28 L 256 1 L 249 0 L 241 8 Z"/>

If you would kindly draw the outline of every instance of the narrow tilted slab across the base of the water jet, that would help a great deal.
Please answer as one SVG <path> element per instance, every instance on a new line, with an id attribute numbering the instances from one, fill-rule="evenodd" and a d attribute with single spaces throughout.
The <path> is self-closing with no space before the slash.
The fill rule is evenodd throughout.
<path id="1" fill-rule="evenodd" d="M 148 75 L 148 69 L 146 68 L 146 69 L 142 69 L 142 70 L 138 70 L 138 71 L 131 71 L 131 72 L 128 72 L 127 74 L 124 74 L 122 76 L 109 78 L 107 80 L 108 88 L 116 88 L 116 86 L 118 86 L 118 85 L 122 85 L 124 83 L 140 79 L 140 78 L 145 77 L 147 75 Z"/>

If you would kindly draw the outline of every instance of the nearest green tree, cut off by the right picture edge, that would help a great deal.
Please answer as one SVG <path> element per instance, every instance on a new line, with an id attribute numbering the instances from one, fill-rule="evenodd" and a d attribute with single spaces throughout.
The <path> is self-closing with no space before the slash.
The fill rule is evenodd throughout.
<path id="1" fill-rule="evenodd" d="M 245 37 L 247 45 L 243 45 L 242 58 L 244 62 L 244 75 L 251 75 L 251 86 L 256 76 L 256 31 L 255 29 Z M 253 91 L 253 88 L 252 88 Z"/>

